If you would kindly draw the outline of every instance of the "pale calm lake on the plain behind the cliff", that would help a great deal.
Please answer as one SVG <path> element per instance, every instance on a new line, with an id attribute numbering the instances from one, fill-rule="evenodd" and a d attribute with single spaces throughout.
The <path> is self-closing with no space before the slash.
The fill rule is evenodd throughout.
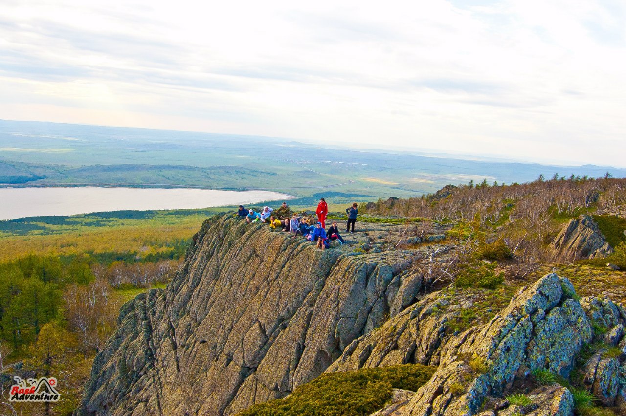
<path id="1" fill-rule="evenodd" d="M 270 191 L 217 191 L 190 188 L 104 188 L 99 186 L 0 188 L 0 220 L 100 211 L 208 208 L 289 198 L 292 196 Z"/>

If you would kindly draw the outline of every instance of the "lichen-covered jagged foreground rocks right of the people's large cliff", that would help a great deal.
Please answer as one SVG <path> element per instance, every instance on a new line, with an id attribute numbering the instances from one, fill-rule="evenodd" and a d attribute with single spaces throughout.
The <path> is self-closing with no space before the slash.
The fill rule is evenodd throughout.
<path id="1" fill-rule="evenodd" d="M 433 293 L 352 342 L 327 371 L 411 362 L 439 365 L 433 378 L 406 405 L 403 415 L 476 415 L 487 398 L 506 392 L 516 379 L 528 377 L 532 370 L 547 369 L 568 377 L 583 343 L 592 340 L 588 318 L 592 312 L 572 298 L 573 294 L 566 278 L 551 273 L 522 288 L 490 322 L 446 336 L 446 322 L 454 312 L 429 312 L 445 301 Z M 612 303 L 597 303 L 607 314 L 619 313 L 617 307 L 610 308 Z M 617 323 L 613 315 L 600 313 L 598 318 Z M 456 393 L 458 385 L 463 385 L 461 394 Z M 572 415 L 571 393 L 560 386 L 555 389 L 533 393 L 536 407 L 521 414 Z M 517 411 L 507 407 L 485 412 L 506 415 Z"/>

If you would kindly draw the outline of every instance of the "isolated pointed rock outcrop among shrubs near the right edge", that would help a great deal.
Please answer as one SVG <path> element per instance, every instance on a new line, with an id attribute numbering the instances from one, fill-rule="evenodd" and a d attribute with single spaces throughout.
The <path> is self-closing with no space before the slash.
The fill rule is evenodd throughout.
<path id="1" fill-rule="evenodd" d="M 603 258 L 613 252 L 590 215 L 572 218 L 550 246 L 555 261 L 565 262 L 585 258 Z"/>

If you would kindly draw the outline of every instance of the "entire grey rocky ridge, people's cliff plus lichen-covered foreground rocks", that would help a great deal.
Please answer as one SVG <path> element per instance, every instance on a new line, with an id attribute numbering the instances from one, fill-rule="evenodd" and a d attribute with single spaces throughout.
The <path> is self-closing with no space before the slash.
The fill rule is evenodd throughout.
<path id="1" fill-rule="evenodd" d="M 530 407 L 501 397 L 535 370 L 569 378 L 594 341 L 600 348 L 576 371 L 604 405 L 626 402 L 622 305 L 578 300 L 551 273 L 485 324 L 451 331 L 473 300 L 463 291 L 421 294 L 411 266 L 433 247 L 380 252 L 379 240 L 406 239 L 406 228 L 370 228 L 321 251 L 264 225 L 205 221 L 167 289 L 121 311 L 77 414 L 231 415 L 324 371 L 426 363 L 438 366 L 431 380 L 396 391 L 395 407 L 379 415 L 569 416 L 572 393 L 558 384 L 528 393 Z M 605 333 L 594 337 L 598 328 Z"/>

